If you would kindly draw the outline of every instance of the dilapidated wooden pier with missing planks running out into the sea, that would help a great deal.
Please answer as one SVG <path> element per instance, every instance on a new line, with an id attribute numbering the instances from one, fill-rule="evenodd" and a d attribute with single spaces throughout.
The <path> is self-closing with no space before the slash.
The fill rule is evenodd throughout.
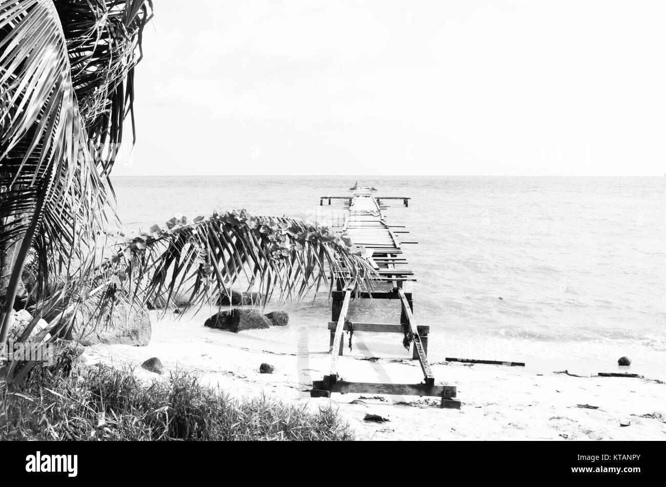
<path id="1" fill-rule="evenodd" d="M 330 374 L 325 375 L 322 381 L 313 381 L 312 397 L 330 397 L 331 393 L 368 393 L 386 395 L 418 395 L 442 398 L 442 407 L 460 408 L 460 401 L 456 397 L 456 387 L 448 385 L 435 385 L 435 378 L 428 363 L 428 325 L 417 325 L 412 311 L 414 301 L 412 293 L 404 291 L 404 283 L 416 281 L 414 271 L 410 269 L 408 259 L 403 256 L 402 245 L 416 242 L 401 242 L 396 234 L 400 232 L 386 222 L 384 210 L 386 205 L 382 200 L 403 200 L 408 206 L 410 198 L 404 196 L 374 196 L 377 190 L 372 187 L 359 187 L 358 182 L 352 188 L 350 196 L 322 196 L 320 205 L 324 200 L 345 200 L 346 214 L 344 224 L 339 228 L 343 238 L 351 240 L 352 244 L 360 249 L 362 255 L 377 272 L 374 279 L 378 289 L 360 291 L 352 289 L 349 285 L 350 275 L 339 271 L 334 275 L 335 291 L 332 291 L 331 321 L 328 322 L 330 331 Z M 380 287 L 384 289 L 380 289 Z M 350 301 L 352 299 L 393 299 L 398 301 L 401 310 L 400 323 L 360 323 L 347 318 Z M 415 384 L 392 383 L 362 383 L 344 381 L 338 374 L 338 361 L 343 355 L 344 331 L 366 331 L 375 333 L 402 333 L 403 345 L 412 348 L 412 359 L 418 360 L 424 379 Z"/>

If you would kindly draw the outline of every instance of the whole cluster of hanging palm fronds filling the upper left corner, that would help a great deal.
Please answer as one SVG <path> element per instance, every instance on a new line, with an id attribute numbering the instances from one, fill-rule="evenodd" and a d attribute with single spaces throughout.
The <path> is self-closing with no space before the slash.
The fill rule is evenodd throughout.
<path id="1" fill-rule="evenodd" d="M 0 0 L 0 245 L 20 244 L 0 343 L 36 242 L 41 287 L 63 267 L 82 285 L 92 277 L 151 12 L 143 0 Z"/>

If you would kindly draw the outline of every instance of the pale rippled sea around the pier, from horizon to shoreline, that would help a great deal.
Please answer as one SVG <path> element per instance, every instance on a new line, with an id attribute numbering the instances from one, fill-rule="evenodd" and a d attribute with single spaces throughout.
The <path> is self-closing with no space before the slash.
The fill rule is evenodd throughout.
<path id="1" fill-rule="evenodd" d="M 410 232 L 402 240 L 418 242 L 404 245 L 404 255 L 418 279 L 410 284 L 414 317 L 430 325 L 431 360 L 609 369 L 627 356 L 666 367 L 666 177 L 156 176 L 117 177 L 113 186 L 123 228 L 136 232 L 173 216 L 241 208 L 334 225 L 342 200 L 320 206 L 320 198 L 348 196 L 357 180 L 378 196 L 411 198 L 408 207 L 386 200 L 386 218 Z M 306 336 L 328 349 L 327 291 L 268 308 L 288 311 L 290 324 L 260 333 L 284 342 Z M 356 321 L 400 316 L 396 301 L 364 300 L 350 311 Z M 402 335 L 356 338 L 361 348 L 379 341 L 386 353 L 410 357 Z"/>

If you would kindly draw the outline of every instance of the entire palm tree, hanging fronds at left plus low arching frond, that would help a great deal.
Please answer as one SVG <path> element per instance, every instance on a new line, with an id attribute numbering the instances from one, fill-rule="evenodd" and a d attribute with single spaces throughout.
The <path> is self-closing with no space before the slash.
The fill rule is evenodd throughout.
<path id="1" fill-rule="evenodd" d="M 91 299 L 101 310 L 119 295 L 186 291 L 200 305 L 241 277 L 266 299 L 300 299 L 343 267 L 350 285 L 370 284 L 372 267 L 326 228 L 244 211 L 172 219 L 106 255 L 109 174 L 128 115 L 134 140 L 135 66 L 152 16 L 151 0 L 0 0 L 0 347 L 17 296 L 35 316 L 21 341 L 49 317 L 31 337 L 39 343 Z M 7 382 L 30 367 L 6 366 Z"/>

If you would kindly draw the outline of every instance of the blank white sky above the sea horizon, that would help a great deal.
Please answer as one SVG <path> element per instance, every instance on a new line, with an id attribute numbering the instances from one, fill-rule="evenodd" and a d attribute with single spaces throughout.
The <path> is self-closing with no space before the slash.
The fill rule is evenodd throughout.
<path id="1" fill-rule="evenodd" d="M 666 2 L 183 5 L 155 2 L 117 176 L 666 172 Z"/>

